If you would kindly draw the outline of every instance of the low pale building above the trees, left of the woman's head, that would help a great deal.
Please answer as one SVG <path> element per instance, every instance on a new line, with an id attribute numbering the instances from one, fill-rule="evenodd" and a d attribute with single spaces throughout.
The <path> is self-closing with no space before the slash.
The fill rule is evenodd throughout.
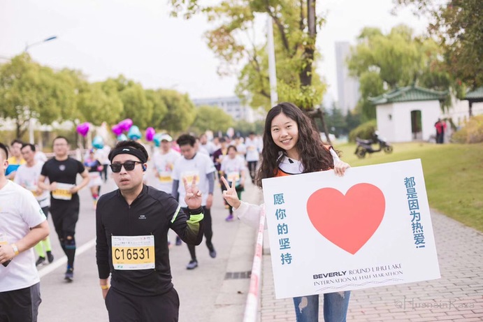
<path id="1" fill-rule="evenodd" d="M 235 121 L 243 119 L 252 123 L 259 119 L 256 115 L 257 113 L 249 105 L 244 105 L 238 96 L 195 98 L 193 99 L 193 103 L 196 107 L 208 105 L 221 108 L 226 114 L 231 115 Z"/>

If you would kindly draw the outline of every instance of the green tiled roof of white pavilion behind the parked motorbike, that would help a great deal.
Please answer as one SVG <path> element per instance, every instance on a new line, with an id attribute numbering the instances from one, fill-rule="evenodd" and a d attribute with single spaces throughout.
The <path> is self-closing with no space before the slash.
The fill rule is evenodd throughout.
<path id="1" fill-rule="evenodd" d="M 411 101 L 442 101 L 447 94 L 448 92 L 438 92 L 413 85 L 399 87 L 377 97 L 370 97 L 369 101 L 375 105 Z"/>

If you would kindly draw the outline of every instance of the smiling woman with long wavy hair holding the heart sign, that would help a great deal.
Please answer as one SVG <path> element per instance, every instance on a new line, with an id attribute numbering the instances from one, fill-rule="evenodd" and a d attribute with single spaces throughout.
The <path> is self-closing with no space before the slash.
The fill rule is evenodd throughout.
<path id="1" fill-rule="evenodd" d="M 298 175 L 324 170 L 334 170 L 344 175 L 349 165 L 341 161 L 331 146 L 323 145 L 312 122 L 296 105 L 280 103 L 269 112 L 265 121 L 264 149 L 255 184 L 262 188 L 261 180 L 285 175 Z M 233 212 L 245 223 L 259 226 L 262 207 L 240 201 L 236 184 L 222 178 L 227 190 L 223 196 L 233 207 Z M 345 321 L 350 292 L 324 294 L 324 320 Z M 319 321 L 319 295 L 294 298 L 296 321 Z"/>

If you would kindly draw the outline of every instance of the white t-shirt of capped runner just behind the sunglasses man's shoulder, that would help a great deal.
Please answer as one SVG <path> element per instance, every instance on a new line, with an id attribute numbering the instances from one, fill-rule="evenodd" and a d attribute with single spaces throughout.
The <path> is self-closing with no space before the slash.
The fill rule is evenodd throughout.
<path id="1" fill-rule="evenodd" d="M 170 149 L 166 154 L 163 154 L 158 149 L 154 151 L 152 162 L 154 163 L 154 170 L 159 173 L 159 177 L 154 184 L 156 189 L 171 193 L 173 188 L 173 168 L 176 160 L 180 159 L 180 157 L 181 154 L 173 149 Z"/>

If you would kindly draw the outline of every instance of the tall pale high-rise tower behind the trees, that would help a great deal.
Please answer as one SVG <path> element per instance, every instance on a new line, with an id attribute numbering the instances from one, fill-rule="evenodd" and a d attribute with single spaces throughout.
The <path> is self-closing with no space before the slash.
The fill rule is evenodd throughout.
<path id="1" fill-rule="evenodd" d="M 338 108 L 346 115 L 347 111 L 354 110 L 359 101 L 359 80 L 349 76 L 346 59 L 350 54 L 350 45 L 347 41 L 336 42 L 336 68 Z"/>

